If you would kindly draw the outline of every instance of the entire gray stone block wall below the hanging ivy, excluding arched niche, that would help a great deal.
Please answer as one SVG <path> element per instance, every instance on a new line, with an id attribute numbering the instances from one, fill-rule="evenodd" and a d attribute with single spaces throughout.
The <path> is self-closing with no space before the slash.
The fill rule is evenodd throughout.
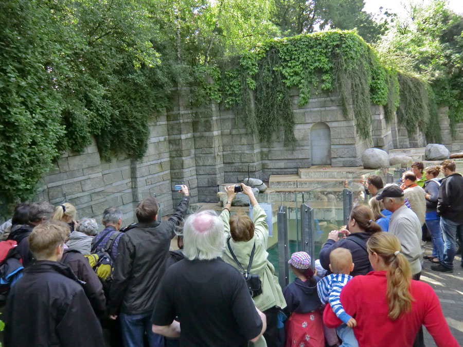
<path id="1" fill-rule="evenodd" d="M 181 197 L 174 191 L 177 184 L 188 185 L 193 203 L 216 202 L 218 185 L 241 181 L 248 172 L 263 180 L 272 174 L 297 174 L 298 168 L 312 165 L 311 132 L 317 128 L 315 124 L 329 127 L 331 157 L 326 165 L 333 167 L 360 166 L 362 153 L 373 146 L 389 150 L 424 145 L 422 134 L 408 137 L 397 121 L 387 124 L 383 107 L 376 105 L 371 106 L 372 138 L 361 140 L 352 105 L 345 117 L 339 93 L 315 94 L 301 106 L 297 90 L 291 91 L 296 137 L 292 147 L 278 138 L 260 142 L 246 128 L 243 117 L 223 105 L 212 103 L 193 110 L 188 93 L 188 88 L 177 90 L 171 107 L 150 122 L 143 158 L 119 157 L 104 162 L 95 143 L 81 154 L 63 153 L 54 170 L 43 178 L 37 198 L 52 204 L 68 200 L 76 205 L 80 217 L 98 219 L 106 207 L 119 207 L 129 223 L 134 220 L 138 202 L 150 195 L 158 198 L 162 215 L 171 213 Z M 444 115 L 442 111 L 442 124 Z M 326 129 L 326 125 L 322 127 Z M 448 127 L 442 126 L 442 131 L 449 140 L 445 135 L 450 134 Z M 463 135 L 457 136 L 463 144 Z M 455 144 L 455 148 L 463 146 Z"/>

